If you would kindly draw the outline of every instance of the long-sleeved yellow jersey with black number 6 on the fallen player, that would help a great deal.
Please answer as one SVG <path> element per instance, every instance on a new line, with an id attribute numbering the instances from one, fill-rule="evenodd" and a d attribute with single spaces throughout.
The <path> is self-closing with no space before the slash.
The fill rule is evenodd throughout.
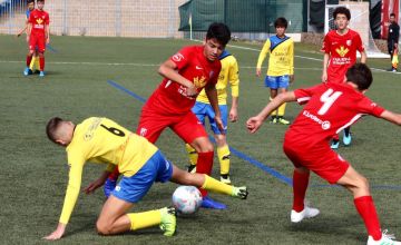
<path id="1" fill-rule="evenodd" d="M 66 151 L 70 169 L 59 219 L 62 224 L 67 224 L 71 216 L 80 192 L 84 165 L 87 161 L 108 164 L 108 171 L 113 171 L 115 165 L 118 165 L 119 171 L 130 177 L 144 166 L 157 148 L 146 138 L 110 119 L 91 117 L 76 126 Z"/>

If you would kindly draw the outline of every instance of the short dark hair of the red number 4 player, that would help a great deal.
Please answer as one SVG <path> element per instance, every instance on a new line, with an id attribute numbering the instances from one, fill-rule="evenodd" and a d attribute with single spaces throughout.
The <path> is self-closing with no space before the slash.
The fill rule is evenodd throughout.
<path id="1" fill-rule="evenodd" d="M 364 63 L 355 63 L 350 67 L 345 74 L 346 80 L 355 84 L 359 90 L 368 89 L 372 81 L 372 71 Z"/>

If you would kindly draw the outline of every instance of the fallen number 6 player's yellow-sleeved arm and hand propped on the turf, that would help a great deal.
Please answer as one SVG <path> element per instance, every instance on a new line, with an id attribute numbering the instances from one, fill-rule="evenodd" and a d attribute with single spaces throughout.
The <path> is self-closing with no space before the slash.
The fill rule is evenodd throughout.
<path id="1" fill-rule="evenodd" d="M 65 234 L 68 220 L 72 214 L 72 209 L 78 199 L 81 178 L 82 178 L 82 169 L 84 169 L 84 163 L 81 164 L 77 163 L 70 165 L 68 187 L 66 192 L 66 197 L 65 197 L 59 224 L 55 232 L 43 237 L 45 239 L 59 239 Z"/>

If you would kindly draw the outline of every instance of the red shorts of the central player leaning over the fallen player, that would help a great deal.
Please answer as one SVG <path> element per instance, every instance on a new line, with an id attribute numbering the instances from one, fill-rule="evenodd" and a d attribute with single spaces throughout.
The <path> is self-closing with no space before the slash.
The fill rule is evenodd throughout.
<path id="1" fill-rule="evenodd" d="M 207 137 L 207 133 L 190 110 L 185 115 L 166 115 L 165 111 L 143 109 L 139 118 L 137 134 L 155 143 L 162 131 L 169 127 L 185 143 L 190 144 L 198 137 Z"/>

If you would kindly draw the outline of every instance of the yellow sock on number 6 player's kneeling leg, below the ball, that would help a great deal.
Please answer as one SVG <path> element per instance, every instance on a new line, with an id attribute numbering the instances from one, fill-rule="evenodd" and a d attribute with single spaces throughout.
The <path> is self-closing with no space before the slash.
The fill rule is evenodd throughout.
<path id="1" fill-rule="evenodd" d="M 131 231 L 156 226 L 162 223 L 160 209 L 148 210 L 143 213 L 130 213 L 127 215 L 131 223 L 131 227 L 130 227 Z"/>

